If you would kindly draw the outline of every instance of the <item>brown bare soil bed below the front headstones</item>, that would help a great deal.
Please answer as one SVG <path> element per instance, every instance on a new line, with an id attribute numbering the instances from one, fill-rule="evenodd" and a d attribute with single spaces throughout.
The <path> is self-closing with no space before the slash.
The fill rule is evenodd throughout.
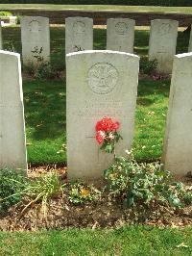
<path id="1" fill-rule="evenodd" d="M 31 169 L 29 175 L 34 178 L 42 172 L 49 173 L 49 168 L 38 167 Z M 60 178 L 66 182 L 66 168 L 59 169 Z M 192 187 L 192 177 L 176 177 L 184 183 L 186 188 Z M 97 186 L 101 189 L 100 186 Z M 22 215 L 21 212 L 27 201 L 13 206 L 9 213 L 0 218 L 0 230 L 23 231 L 40 229 L 63 229 L 69 227 L 78 228 L 105 228 L 120 227 L 125 224 L 149 224 L 157 226 L 182 227 L 192 224 L 192 205 L 182 209 L 175 209 L 154 205 L 153 209 L 140 205 L 137 208 L 128 209 L 121 201 L 108 199 L 104 193 L 100 200 L 88 202 L 84 205 L 74 205 L 67 200 L 66 194 L 51 199 L 48 203 L 47 216 L 44 218 L 41 203 L 33 204 Z"/>

